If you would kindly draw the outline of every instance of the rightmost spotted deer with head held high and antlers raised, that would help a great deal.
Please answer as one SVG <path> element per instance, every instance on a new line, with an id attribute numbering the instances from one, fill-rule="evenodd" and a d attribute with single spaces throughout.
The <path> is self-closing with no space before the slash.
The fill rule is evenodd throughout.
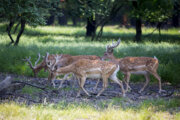
<path id="1" fill-rule="evenodd" d="M 131 74 L 139 74 L 145 76 L 145 84 L 138 91 L 142 93 L 150 81 L 150 74 L 153 75 L 159 82 L 159 93 L 164 92 L 161 87 L 161 78 L 157 73 L 159 61 L 156 57 L 125 57 L 125 58 L 116 58 L 113 54 L 113 49 L 120 44 L 121 40 L 119 39 L 116 43 L 112 42 L 112 45 L 106 46 L 106 51 L 102 57 L 102 60 L 109 59 L 110 61 L 116 63 L 120 67 L 120 71 L 125 75 L 123 81 L 126 83 L 125 92 L 131 90 L 129 86 L 129 80 Z"/>

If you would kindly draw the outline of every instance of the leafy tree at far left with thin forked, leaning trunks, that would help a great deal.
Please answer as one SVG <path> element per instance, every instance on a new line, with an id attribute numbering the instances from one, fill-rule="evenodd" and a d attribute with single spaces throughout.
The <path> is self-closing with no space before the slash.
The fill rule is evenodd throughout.
<path id="1" fill-rule="evenodd" d="M 48 11 L 54 9 L 52 3 L 59 5 L 59 0 L 1 0 L 0 19 L 9 22 L 7 25 L 7 33 L 11 39 L 9 45 L 18 45 L 26 24 L 44 25 Z M 20 23 L 21 27 L 15 41 L 11 36 L 11 30 L 16 23 Z"/>

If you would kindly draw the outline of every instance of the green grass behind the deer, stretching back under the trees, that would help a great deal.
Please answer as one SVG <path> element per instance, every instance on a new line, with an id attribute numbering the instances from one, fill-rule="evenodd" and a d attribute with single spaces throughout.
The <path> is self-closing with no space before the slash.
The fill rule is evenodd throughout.
<path id="1" fill-rule="evenodd" d="M 179 84 L 180 74 L 180 33 L 179 29 L 171 28 L 162 30 L 146 37 L 154 28 L 143 28 L 142 43 L 134 43 L 135 29 L 107 26 L 101 41 L 91 41 L 86 38 L 85 27 L 72 26 L 44 26 L 31 28 L 26 26 L 25 33 L 20 39 L 18 47 L 6 47 L 10 39 L 5 33 L 5 24 L 0 24 L 0 71 L 32 76 L 33 73 L 27 63 L 22 59 L 31 56 L 34 62 L 37 53 L 45 55 L 46 52 L 71 55 L 98 55 L 102 56 L 107 44 L 112 40 L 121 38 L 121 44 L 115 49 L 118 58 L 126 56 L 156 56 L 159 60 L 158 73 L 162 81 Z M 15 37 L 15 36 L 13 36 Z M 39 77 L 47 77 L 47 73 L 41 71 Z M 119 75 L 122 77 L 121 75 Z M 152 77 L 152 81 L 155 79 Z M 143 81 L 143 76 L 132 76 L 132 81 Z"/>

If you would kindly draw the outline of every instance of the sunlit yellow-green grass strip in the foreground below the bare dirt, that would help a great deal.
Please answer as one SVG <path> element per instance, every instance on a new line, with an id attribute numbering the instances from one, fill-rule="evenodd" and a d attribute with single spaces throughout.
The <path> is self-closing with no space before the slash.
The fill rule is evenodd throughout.
<path id="1" fill-rule="evenodd" d="M 113 100 L 112 100 L 113 101 Z M 0 118 L 6 120 L 179 120 L 180 112 L 176 112 L 180 106 L 178 99 L 149 100 L 139 103 L 138 108 L 123 108 L 119 104 L 110 104 L 106 108 L 93 106 L 91 103 L 66 103 L 30 105 L 14 102 L 0 104 Z M 111 102 L 111 101 L 110 101 Z M 116 100 L 117 102 L 117 100 Z M 174 103 L 179 102 L 179 103 Z M 158 104 L 157 104 L 158 103 Z M 159 104 L 160 103 L 160 104 Z M 176 104 L 174 106 L 174 104 Z M 159 109 L 163 107 L 166 109 Z"/>

